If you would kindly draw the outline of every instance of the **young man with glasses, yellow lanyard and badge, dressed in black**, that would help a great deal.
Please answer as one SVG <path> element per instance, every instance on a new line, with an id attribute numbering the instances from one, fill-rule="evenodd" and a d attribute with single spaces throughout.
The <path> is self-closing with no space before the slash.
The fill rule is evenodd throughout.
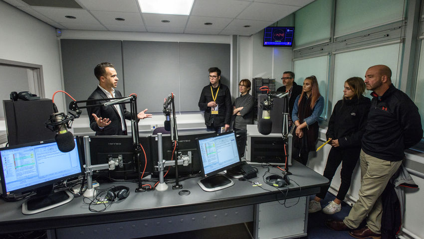
<path id="1" fill-rule="evenodd" d="M 199 108 L 205 111 L 205 124 L 208 131 L 220 133 L 229 129 L 232 107 L 229 89 L 219 82 L 221 70 L 209 68 L 210 84 L 202 90 Z"/>

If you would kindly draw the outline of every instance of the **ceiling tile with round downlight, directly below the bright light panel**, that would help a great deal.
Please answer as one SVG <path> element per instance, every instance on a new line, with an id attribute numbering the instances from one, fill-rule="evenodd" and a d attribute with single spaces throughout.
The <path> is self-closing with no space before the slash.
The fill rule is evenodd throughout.
<path id="1" fill-rule="evenodd" d="M 167 14 L 155 14 L 155 13 L 143 13 L 143 19 L 146 23 L 146 26 L 152 27 L 169 27 L 170 29 L 174 27 L 186 27 L 187 19 L 189 16 L 183 15 L 167 15 Z M 169 20 L 171 22 L 161 22 L 162 20 Z"/>

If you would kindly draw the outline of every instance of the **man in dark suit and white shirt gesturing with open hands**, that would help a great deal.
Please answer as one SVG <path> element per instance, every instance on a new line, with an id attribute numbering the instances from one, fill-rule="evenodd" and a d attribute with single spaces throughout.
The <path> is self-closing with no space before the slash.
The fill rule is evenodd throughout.
<path id="1" fill-rule="evenodd" d="M 94 75 L 99 80 L 99 85 L 88 97 L 88 100 L 122 97 L 121 92 L 115 90 L 118 85 L 118 77 L 115 67 L 111 63 L 98 64 L 94 68 Z M 87 106 L 101 103 L 90 102 L 87 103 Z M 145 114 L 146 111 L 147 109 L 138 113 L 137 118 L 152 118 L 151 114 Z M 90 107 L 87 108 L 87 112 L 90 118 L 90 128 L 96 131 L 96 135 L 127 135 L 125 119 L 132 119 L 132 116 L 124 105 Z"/>

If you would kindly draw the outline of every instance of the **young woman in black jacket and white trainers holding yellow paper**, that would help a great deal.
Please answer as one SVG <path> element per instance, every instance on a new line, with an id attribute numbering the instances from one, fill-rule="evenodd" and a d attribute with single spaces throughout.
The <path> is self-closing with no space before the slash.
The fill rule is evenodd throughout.
<path id="1" fill-rule="evenodd" d="M 345 81 L 343 100 L 336 103 L 328 122 L 327 139 L 330 140 L 331 149 L 328 154 L 324 177 L 333 179 L 337 168 L 342 163 L 340 171 L 341 183 L 339 192 L 329 204 L 322 209 L 325 214 L 339 212 L 341 202 L 349 190 L 352 173 L 361 151 L 361 139 L 365 131 L 371 100 L 364 97 L 365 83 L 360 77 L 352 77 Z M 327 194 L 330 186 L 321 187 L 320 193 L 309 202 L 309 212 L 321 210 L 320 201 Z"/>

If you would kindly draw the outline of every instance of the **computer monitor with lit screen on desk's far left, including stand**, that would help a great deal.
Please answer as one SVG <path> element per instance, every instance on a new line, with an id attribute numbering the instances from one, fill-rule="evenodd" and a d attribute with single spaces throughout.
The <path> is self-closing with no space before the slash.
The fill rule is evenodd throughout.
<path id="1" fill-rule="evenodd" d="M 3 196 L 29 192 L 36 195 L 22 204 L 23 214 L 42 212 L 73 199 L 68 190 L 53 192 L 53 185 L 82 174 L 79 140 L 69 152 L 59 151 L 54 140 L 14 145 L 0 149 Z"/>

